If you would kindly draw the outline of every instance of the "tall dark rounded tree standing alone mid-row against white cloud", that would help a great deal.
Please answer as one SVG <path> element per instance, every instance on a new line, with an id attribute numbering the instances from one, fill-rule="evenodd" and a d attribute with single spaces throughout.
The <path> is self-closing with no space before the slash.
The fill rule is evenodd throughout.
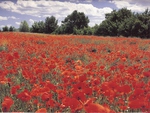
<path id="1" fill-rule="evenodd" d="M 88 27 L 88 23 L 88 17 L 83 12 L 77 12 L 77 10 L 73 11 L 62 21 L 64 32 L 68 34 L 73 33 L 75 29 L 79 30 Z"/>

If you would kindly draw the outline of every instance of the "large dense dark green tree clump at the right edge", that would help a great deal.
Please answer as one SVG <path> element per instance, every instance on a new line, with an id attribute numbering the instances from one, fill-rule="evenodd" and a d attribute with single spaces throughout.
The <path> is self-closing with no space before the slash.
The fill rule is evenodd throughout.
<path id="1" fill-rule="evenodd" d="M 139 14 L 127 8 L 113 10 L 95 30 L 95 35 L 150 37 L 150 11 Z"/>

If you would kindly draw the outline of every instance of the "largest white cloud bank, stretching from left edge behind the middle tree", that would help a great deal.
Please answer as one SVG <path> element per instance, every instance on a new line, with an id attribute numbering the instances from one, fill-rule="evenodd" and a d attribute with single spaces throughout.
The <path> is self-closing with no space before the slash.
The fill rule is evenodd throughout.
<path id="1" fill-rule="evenodd" d="M 92 0 L 84 0 L 83 2 L 91 2 Z M 36 17 L 55 16 L 58 19 L 58 23 L 74 10 L 84 12 L 90 19 L 90 25 L 94 25 L 96 22 L 101 22 L 105 18 L 105 13 L 110 13 L 111 8 L 96 8 L 92 4 L 60 2 L 60 1 L 24 1 L 18 0 L 17 3 L 13 2 L 1 2 L 0 7 L 16 12 L 19 14 L 31 15 Z M 103 17 L 103 18 L 102 18 Z M 94 20 L 91 20 L 93 19 Z M 30 20 L 32 21 L 32 20 Z M 33 21 L 32 21 L 33 22 Z M 99 23 L 98 23 L 99 24 Z"/>

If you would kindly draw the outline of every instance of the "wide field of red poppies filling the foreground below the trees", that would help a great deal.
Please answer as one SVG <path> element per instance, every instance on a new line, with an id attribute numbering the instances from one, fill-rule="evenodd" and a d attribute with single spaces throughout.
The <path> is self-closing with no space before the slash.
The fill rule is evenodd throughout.
<path id="1" fill-rule="evenodd" d="M 150 40 L 0 33 L 0 112 L 150 112 Z"/>

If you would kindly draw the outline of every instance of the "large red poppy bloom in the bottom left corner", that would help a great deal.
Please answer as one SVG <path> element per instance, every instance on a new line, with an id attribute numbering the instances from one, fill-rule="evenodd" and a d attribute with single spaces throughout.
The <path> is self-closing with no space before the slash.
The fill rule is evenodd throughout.
<path id="1" fill-rule="evenodd" d="M 5 97 L 4 101 L 2 102 L 2 111 L 8 112 L 13 103 L 14 102 L 10 97 Z"/>

